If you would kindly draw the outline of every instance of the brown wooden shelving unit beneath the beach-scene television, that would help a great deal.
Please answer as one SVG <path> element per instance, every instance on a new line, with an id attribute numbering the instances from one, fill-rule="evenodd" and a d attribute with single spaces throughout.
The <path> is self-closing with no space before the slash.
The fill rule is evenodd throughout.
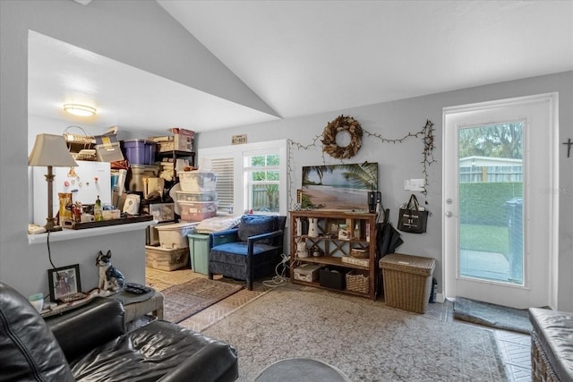
<path id="1" fill-rule="evenodd" d="M 291 211 L 290 212 L 290 279 L 295 284 L 304 284 L 315 286 L 318 288 L 326 288 L 335 290 L 341 293 L 356 294 L 363 297 L 369 297 L 376 300 L 377 295 L 377 276 L 378 264 L 376 261 L 376 214 L 369 213 L 353 213 L 344 211 Z M 308 222 L 309 219 L 317 219 L 318 232 L 316 236 L 308 235 Z M 297 234 L 297 222 L 306 228 L 303 229 L 302 234 Z M 345 228 L 346 226 L 346 228 Z M 358 228 L 356 230 L 355 228 Z M 338 237 L 340 229 L 346 229 L 347 239 Z M 315 257 L 309 253 L 307 257 L 299 256 L 297 252 L 298 243 L 304 241 L 306 249 L 318 248 L 321 256 Z M 367 252 L 367 259 L 364 263 L 367 265 L 359 265 L 348 262 L 343 262 L 342 258 L 350 257 L 352 250 L 365 250 Z M 312 250 L 311 250 L 312 252 Z M 307 282 L 295 279 L 295 267 L 303 264 L 318 264 L 324 267 L 336 267 L 343 271 L 351 271 L 353 269 L 362 271 L 369 277 L 369 288 L 367 293 L 356 292 L 352 290 L 338 290 L 321 285 L 320 280 Z"/>

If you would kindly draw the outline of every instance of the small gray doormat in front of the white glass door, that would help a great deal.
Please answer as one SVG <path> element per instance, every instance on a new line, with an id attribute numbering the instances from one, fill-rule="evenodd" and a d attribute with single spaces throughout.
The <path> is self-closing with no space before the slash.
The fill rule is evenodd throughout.
<path id="1" fill-rule="evenodd" d="M 508 308 L 464 297 L 456 297 L 454 301 L 454 318 L 527 335 L 533 328 L 529 322 L 527 310 Z"/>

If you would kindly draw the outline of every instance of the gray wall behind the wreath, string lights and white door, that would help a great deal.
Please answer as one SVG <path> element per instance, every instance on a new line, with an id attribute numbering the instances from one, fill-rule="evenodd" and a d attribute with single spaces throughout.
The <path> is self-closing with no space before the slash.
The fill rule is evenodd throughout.
<path id="1" fill-rule="evenodd" d="M 297 143 L 308 145 L 321 135 L 326 124 L 338 115 L 354 116 L 363 128 L 383 138 L 398 139 L 407 132 L 418 132 L 426 119 L 430 119 L 436 128 L 436 149 L 433 151 L 437 163 L 429 167 L 428 205 L 432 216 L 429 219 L 428 232 L 423 234 L 402 233 L 404 244 L 398 252 L 420 256 L 429 256 L 437 260 L 434 276 L 438 279 L 439 291 L 442 291 L 442 233 L 441 233 L 441 145 L 442 145 L 442 108 L 446 106 L 465 105 L 476 102 L 491 101 L 503 98 L 515 98 L 533 94 L 558 91 L 560 99 L 560 142 L 573 138 L 573 72 L 535 77 L 519 81 L 509 81 L 472 89 L 461 89 L 447 93 L 433 94 L 419 98 L 408 98 L 372 106 L 354 107 L 337 110 L 321 115 L 302 118 L 259 123 L 252 126 L 227 129 L 218 132 L 200 132 L 196 135 L 198 147 L 217 147 L 221 142 L 230 142 L 233 134 L 247 134 L 249 142 L 278 140 L 288 138 Z M 410 195 L 404 190 L 404 180 L 422 178 L 421 140 L 408 139 L 404 143 L 382 143 L 374 137 L 363 138 L 363 147 L 348 163 L 378 162 L 379 187 L 385 208 L 391 210 L 391 221 L 396 226 L 398 205 Z M 310 149 L 294 149 L 294 160 L 290 170 L 294 172 L 295 184 L 290 188 L 291 198 L 295 197 L 296 188 L 301 186 L 302 166 L 338 163 L 331 157 L 323 157 L 321 142 Z M 555 191 L 560 199 L 560 233 L 559 233 L 559 274 L 558 274 L 558 307 L 560 310 L 573 310 L 573 157 L 567 158 L 567 150 L 560 145 L 560 190 Z M 420 194 L 417 194 L 420 199 Z M 422 200 L 422 199 L 420 199 Z"/>

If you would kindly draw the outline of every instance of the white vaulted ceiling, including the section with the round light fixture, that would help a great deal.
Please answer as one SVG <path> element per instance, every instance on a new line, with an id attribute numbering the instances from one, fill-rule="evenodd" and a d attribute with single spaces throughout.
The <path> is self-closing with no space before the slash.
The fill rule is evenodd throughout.
<path id="1" fill-rule="evenodd" d="M 102 125 L 201 132 L 573 70 L 570 1 L 158 4 L 269 108 L 31 36 L 30 113 L 62 117 L 47 98 L 83 83 Z"/>

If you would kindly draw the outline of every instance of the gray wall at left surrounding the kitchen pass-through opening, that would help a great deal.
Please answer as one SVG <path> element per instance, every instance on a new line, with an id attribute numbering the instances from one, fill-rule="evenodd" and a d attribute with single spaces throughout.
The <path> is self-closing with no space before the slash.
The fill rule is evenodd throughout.
<path id="1" fill-rule="evenodd" d="M 51 267 L 47 246 L 30 245 L 26 234 L 31 205 L 29 141 L 40 124 L 54 132 L 58 123 L 28 121 L 29 30 L 273 114 L 154 1 L 94 0 L 89 6 L 71 0 L 0 1 L 0 280 L 24 295 L 47 293 Z M 112 250 L 112 261 L 124 276 L 144 282 L 144 246 L 141 230 L 52 242 L 50 248 L 56 267 L 80 264 L 83 290 L 89 290 L 97 285 L 98 250 Z"/>

